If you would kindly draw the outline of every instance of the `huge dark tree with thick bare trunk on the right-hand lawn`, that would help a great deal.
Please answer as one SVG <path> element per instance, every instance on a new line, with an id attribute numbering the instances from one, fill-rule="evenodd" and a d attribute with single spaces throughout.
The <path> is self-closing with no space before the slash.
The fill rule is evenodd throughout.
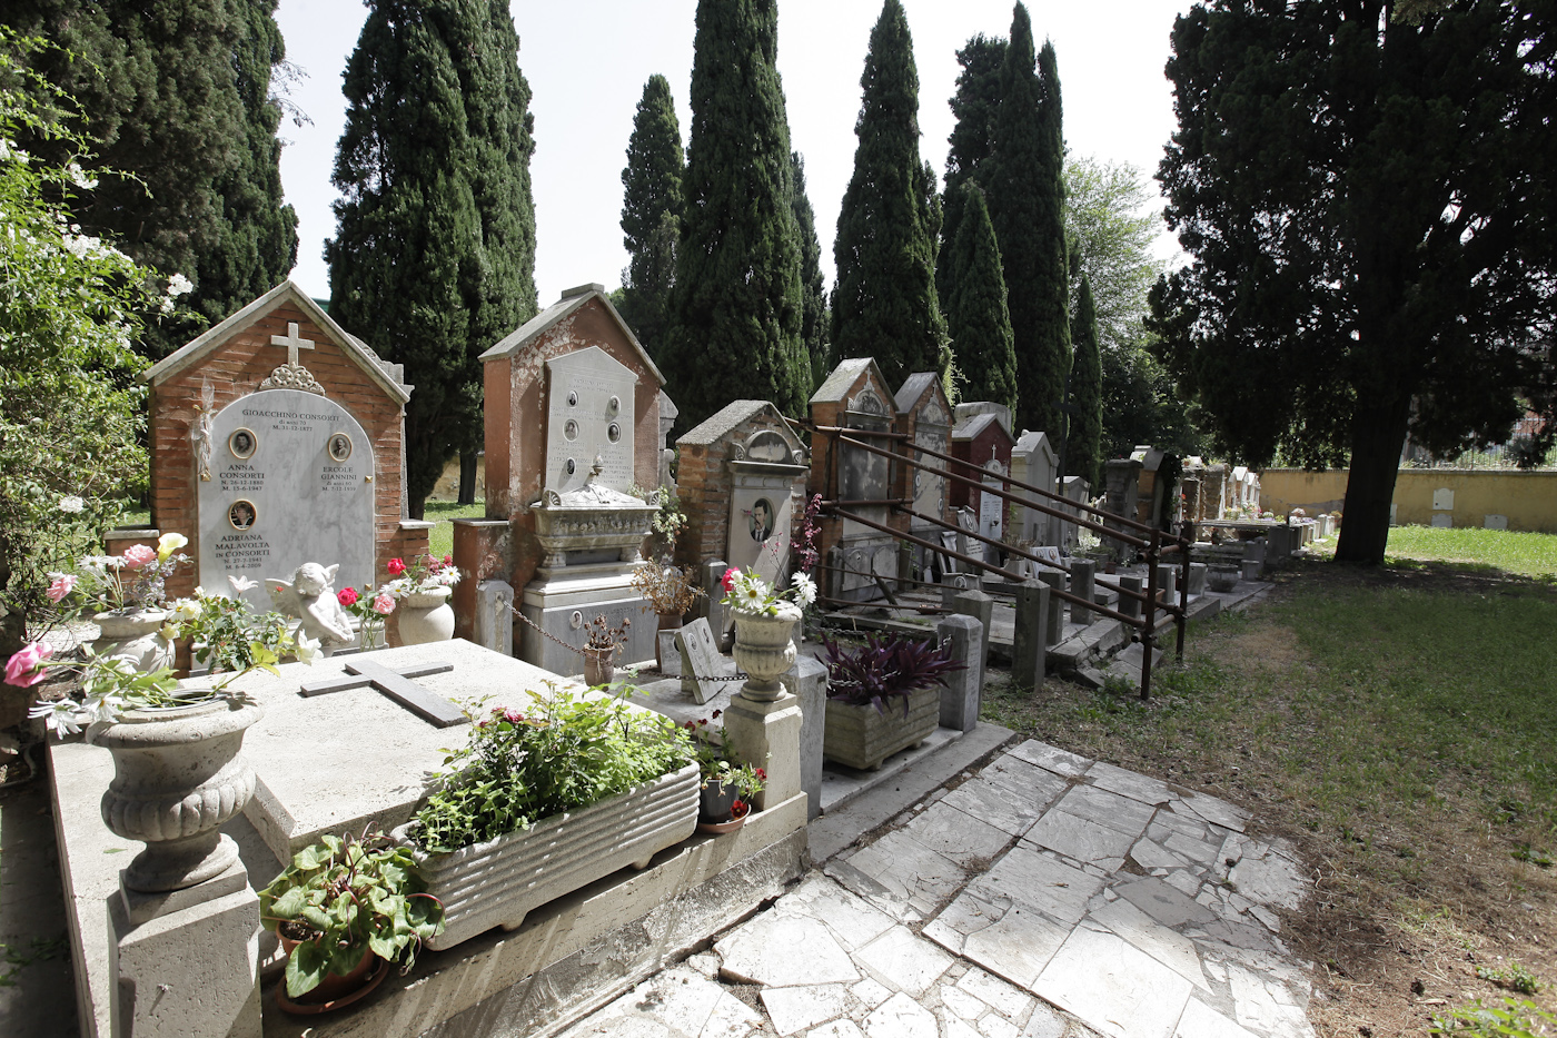
<path id="1" fill-rule="evenodd" d="M 1549 11 L 1390 12 L 1177 19 L 1158 171 L 1194 257 L 1152 291 L 1160 355 L 1244 461 L 1350 460 L 1337 558 L 1358 563 L 1383 561 L 1408 430 L 1451 454 L 1552 415 Z"/>

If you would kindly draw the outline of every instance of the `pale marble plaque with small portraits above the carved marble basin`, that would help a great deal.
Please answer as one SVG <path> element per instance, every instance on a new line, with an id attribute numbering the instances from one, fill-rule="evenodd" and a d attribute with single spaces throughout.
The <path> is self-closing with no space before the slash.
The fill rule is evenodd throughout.
<path id="1" fill-rule="evenodd" d="M 543 486 L 579 489 L 598 458 L 595 483 L 632 486 L 632 394 L 637 376 L 599 346 L 547 362 L 547 471 Z"/>

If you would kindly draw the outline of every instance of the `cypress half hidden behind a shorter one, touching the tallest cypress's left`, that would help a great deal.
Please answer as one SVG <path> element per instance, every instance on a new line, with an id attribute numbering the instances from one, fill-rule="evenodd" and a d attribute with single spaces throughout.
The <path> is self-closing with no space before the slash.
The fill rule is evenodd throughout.
<path id="1" fill-rule="evenodd" d="M 951 320 L 951 252 L 962 226 L 962 184 L 978 179 L 995 139 L 995 112 L 1000 111 L 1000 69 L 1006 62 L 1006 41 L 979 33 L 958 51 L 958 92 L 948 101 L 951 126 L 947 143 L 947 195 L 940 223 L 940 254 L 936 259 L 936 290 L 940 310 Z M 953 351 L 956 343 L 953 343 Z"/>

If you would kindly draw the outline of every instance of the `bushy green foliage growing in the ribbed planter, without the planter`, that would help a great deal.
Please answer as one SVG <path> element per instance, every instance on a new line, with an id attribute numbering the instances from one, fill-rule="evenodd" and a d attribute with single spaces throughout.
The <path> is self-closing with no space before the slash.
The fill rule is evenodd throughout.
<path id="1" fill-rule="evenodd" d="M 556 686 L 529 698 L 528 712 L 467 708 L 470 740 L 444 759 L 409 829 L 417 846 L 441 854 L 494 840 L 691 761 L 687 733 L 668 717 Z"/>

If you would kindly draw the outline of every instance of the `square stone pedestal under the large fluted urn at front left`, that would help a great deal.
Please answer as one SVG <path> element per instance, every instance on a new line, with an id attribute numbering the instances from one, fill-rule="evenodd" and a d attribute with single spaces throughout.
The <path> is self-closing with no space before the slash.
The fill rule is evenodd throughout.
<path id="1" fill-rule="evenodd" d="M 198 887 L 109 898 L 114 1038 L 260 1038 L 260 898 L 241 863 Z"/>

